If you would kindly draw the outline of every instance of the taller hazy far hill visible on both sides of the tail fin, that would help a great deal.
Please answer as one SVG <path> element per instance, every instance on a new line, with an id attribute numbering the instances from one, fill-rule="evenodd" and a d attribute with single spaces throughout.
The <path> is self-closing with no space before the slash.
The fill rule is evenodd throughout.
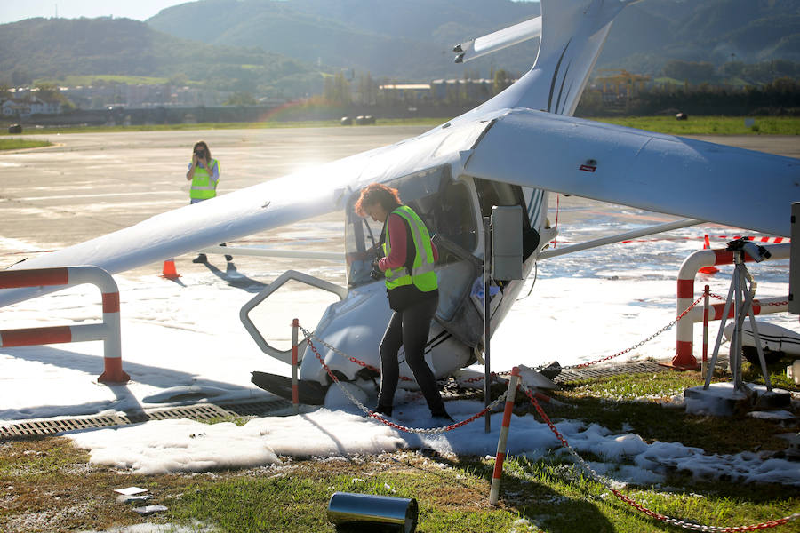
<path id="1" fill-rule="evenodd" d="M 404 80 L 490 76 L 493 66 L 531 68 L 536 42 L 466 66 L 452 46 L 540 13 L 510 0 L 202 0 L 148 20 L 152 28 L 207 44 L 260 46 L 325 67 Z M 668 60 L 800 61 L 796 0 L 644 0 L 612 26 L 598 68 L 657 75 Z"/>

